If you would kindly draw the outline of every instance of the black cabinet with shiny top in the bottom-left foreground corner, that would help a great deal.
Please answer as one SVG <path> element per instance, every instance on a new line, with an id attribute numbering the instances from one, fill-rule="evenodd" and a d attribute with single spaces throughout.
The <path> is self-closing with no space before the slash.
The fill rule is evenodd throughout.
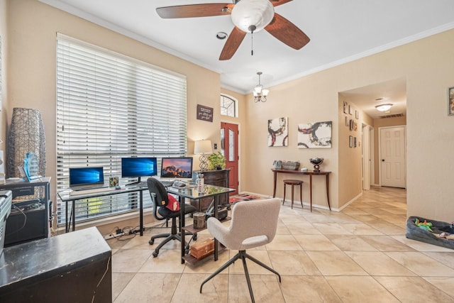
<path id="1" fill-rule="evenodd" d="M 0 302 L 112 302 L 111 248 L 96 227 L 0 255 Z"/>

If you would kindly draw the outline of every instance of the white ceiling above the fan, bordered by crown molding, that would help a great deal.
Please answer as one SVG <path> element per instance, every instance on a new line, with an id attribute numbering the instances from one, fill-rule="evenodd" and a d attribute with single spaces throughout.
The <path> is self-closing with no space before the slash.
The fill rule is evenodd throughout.
<path id="1" fill-rule="evenodd" d="M 40 1 L 218 72 L 222 87 L 243 94 L 258 83 L 259 71 L 270 87 L 454 28 L 453 0 L 294 0 L 275 11 L 311 38 L 304 48 L 260 31 L 254 55 L 248 34 L 231 60 L 219 61 L 225 40 L 216 33 L 232 31 L 230 16 L 162 19 L 156 8 L 232 0 Z"/>

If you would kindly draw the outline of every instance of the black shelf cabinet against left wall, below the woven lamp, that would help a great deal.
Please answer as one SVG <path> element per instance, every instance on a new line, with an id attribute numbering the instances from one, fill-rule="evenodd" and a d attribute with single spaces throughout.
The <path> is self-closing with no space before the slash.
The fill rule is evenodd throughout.
<path id="1" fill-rule="evenodd" d="M 32 182 L 6 182 L 13 203 L 6 219 L 5 247 L 49 236 L 50 177 Z"/>

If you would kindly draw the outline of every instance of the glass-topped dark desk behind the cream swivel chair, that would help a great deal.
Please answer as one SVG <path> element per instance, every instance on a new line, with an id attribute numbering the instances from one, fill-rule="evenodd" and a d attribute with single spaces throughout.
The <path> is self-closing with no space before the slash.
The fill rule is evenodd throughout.
<path id="1" fill-rule="evenodd" d="M 184 232 L 186 230 L 192 231 L 193 233 L 203 231 L 204 228 L 201 229 L 194 229 L 192 226 L 185 226 L 184 224 L 184 198 L 188 199 L 201 199 L 206 197 L 214 197 L 214 216 L 218 217 L 218 205 L 220 202 L 221 197 L 223 194 L 227 194 L 229 192 L 234 192 L 235 189 L 227 188 L 227 187 L 219 187 L 214 185 L 205 185 L 203 192 L 197 190 L 196 187 L 192 188 L 182 188 L 178 189 L 175 187 L 167 187 L 167 192 L 170 194 L 176 194 L 179 197 L 179 210 L 181 211 L 181 216 L 179 219 L 179 228 L 182 232 L 182 250 L 181 250 L 181 257 L 182 257 L 182 264 L 184 261 L 187 260 L 189 263 L 195 263 L 196 260 L 191 258 L 191 255 L 186 255 L 186 247 L 184 246 Z M 214 260 L 218 260 L 218 241 L 216 238 L 214 239 Z"/>

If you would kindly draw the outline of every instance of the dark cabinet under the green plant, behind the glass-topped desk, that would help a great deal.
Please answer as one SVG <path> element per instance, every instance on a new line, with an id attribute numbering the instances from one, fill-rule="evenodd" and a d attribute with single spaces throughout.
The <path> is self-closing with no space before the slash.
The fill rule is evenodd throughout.
<path id="1" fill-rule="evenodd" d="M 200 174 L 204 174 L 204 184 L 210 184 L 220 187 L 228 187 L 228 174 L 230 170 L 200 170 L 194 171 L 194 174 L 199 178 Z M 219 205 L 225 206 L 228 204 L 228 193 L 223 194 L 219 197 Z M 213 202 L 213 197 L 202 198 L 198 200 L 191 200 L 191 205 L 194 206 L 197 211 L 206 211 L 208 206 Z"/>

